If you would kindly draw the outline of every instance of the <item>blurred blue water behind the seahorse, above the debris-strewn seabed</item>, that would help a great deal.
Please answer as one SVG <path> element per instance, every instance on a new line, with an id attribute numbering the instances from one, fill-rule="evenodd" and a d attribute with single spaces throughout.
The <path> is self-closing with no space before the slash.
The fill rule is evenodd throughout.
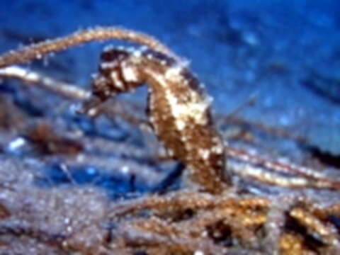
<path id="1" fill-rule="evenodd" d="M 332 157 L 340 155 L 339 1 L 14 0 L 5 5 L 1 52 L 94 26 L 149 33 L 190 60 L 215 98 L 215 116 L 237 114 L 302 137 Z M 103 45 L 77 47 L 30 67 L 88 87 Z M 132 98 L 145 102 L 138 94 Z"/>

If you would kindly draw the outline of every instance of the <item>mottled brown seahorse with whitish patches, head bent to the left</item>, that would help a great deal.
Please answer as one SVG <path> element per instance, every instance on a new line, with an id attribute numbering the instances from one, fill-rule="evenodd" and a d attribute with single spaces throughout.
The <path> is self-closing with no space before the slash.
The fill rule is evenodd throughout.
<path id="1" fill-rule="evenodd" d="M 110 47 L 101 55 L 93 93 L 103 101 L 144 83 L 150 124 L 169 156 L 186 165 L 196 188 L 222 193 L 229 182 L 224 147 L 212 124 L 210 99 L 186 64 L 147 48 Z"/>

